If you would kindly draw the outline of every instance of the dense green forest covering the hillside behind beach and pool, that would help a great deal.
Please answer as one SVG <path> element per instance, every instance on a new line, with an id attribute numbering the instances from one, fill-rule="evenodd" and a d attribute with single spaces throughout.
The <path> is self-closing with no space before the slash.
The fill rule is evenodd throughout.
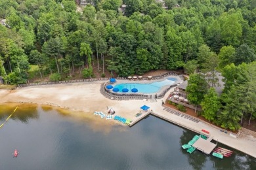
<path id="1" fill-rule="evenodd" d="M 1 0 L 5 83 L 184 68 L 188 99 L 209 121 L 239 129 L 256 118 L 256 1 L 89 2 L 79 10 L 75 0 Z M 211 88 L 217 73 L 224 76 L 221 96 Z"/>

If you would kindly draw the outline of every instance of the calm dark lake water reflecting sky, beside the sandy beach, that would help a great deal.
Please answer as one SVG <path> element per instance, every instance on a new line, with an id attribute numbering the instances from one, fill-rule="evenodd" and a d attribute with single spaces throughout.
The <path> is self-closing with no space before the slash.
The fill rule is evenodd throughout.
<path id="1" fill-rule="evenodd" d="M 1 124 L 14 109 L 0 105 Z M 181 145 L 196 133 L 154 116 L 133 127 L 90 116 L 20 106 L 0 128 L 0 169 L 256 169 L 255 158 L 222 144 L 234 151 L 230 158 L 188 154 Z"/>

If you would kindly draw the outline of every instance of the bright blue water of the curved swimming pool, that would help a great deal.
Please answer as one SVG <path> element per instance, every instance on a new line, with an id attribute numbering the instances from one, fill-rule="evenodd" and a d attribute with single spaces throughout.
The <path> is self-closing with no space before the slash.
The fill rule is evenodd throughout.
<path id="1" fill-rule="evenodd" d="M 177 78 L 167 78 L 160 82 L 152 82 L 149 84 L 140 84 L 140 83 L 123 83 L 123 84 L 116 84 L 114 88 L 118 88 L 119 92 L 122 92 L 123 88 L 127 88 L 131 93 L 133 88 L 138 89 L 138 93 L 156 93 L 158 92 L 163 86 L 174 84 L 177 81 Z"/>

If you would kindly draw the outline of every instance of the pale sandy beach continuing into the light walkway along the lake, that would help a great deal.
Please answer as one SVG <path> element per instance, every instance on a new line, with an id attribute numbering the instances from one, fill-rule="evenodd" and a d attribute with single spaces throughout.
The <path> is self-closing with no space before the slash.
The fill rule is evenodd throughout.
<path id="1" fill-rule="evenodd" d="M 53 105 L 64 109 L 83 111 L 85 114 L 93 114 L 96 110 L 106 113 L 108 111 L 107 107 L 113 107 L 118 116 L 130 118 L 131 120 L 135 119 L 135 114 L 140 111 L 140 107 L 142 105 L 148 105 L 154 112 L 169 118 L 181 126 L 188 127 L 194 131 L 207 129 L 210 131 L 211 137 L 216 141 L 226 144 L 232 148 L 236 148 L 237 150 L 245 152 L 246 154 L 256 158 L 256 138 L 252 135 L 243 134 L 241 137 L 234 138 L 219 131 L 219 129 L 208 126 L 203 122 L 196 124 L 196 122 L 192 122 L 181 118 L 181 116 L 177 116 L 163 110 L 163 107 L 161 106 L 162 99 L 158 99 L 157 102 L 151 102 L 150 100 L 147 101 L 146 99 L 129 101 L 107 99 L 100 93 L 100 83 L 102 82 L 91 82 L 91 84 L 76 83 L 32 86 L 27 88 L 18 88 L 12 91 L 0 90 L 0 103 L 16 102 Z M 163 101 L 165 101 L 168 94 L 169 92 L 166 93 L 165 97 L 163 97 Z M 116 123 L 116 121 L 112 121 Z"/>

